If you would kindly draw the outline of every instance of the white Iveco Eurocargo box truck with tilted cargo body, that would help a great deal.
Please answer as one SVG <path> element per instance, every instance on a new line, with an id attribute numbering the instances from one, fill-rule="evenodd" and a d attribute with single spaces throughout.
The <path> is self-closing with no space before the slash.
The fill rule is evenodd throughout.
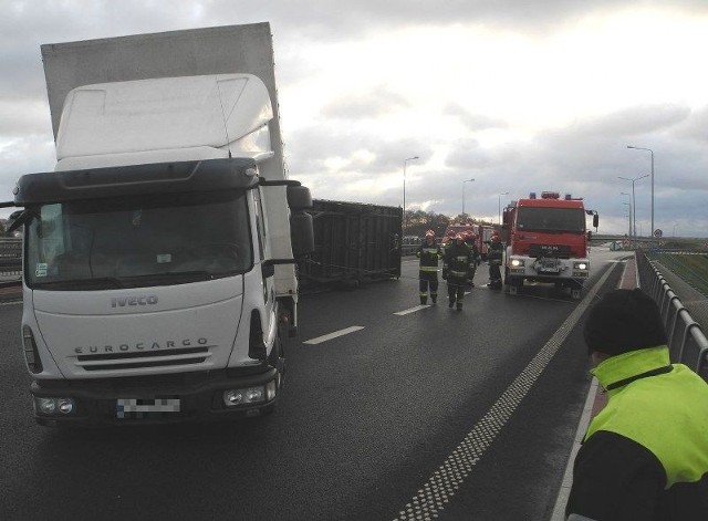
<path id="1" fill-rule="evenodd" d="M 22 176 L 22 344 L 42 425 L 272 410 L 308 188 L 268 23 L 42 45 L 58 163 Z M 61 117 L 59 114 L 61 113 Z"/>

